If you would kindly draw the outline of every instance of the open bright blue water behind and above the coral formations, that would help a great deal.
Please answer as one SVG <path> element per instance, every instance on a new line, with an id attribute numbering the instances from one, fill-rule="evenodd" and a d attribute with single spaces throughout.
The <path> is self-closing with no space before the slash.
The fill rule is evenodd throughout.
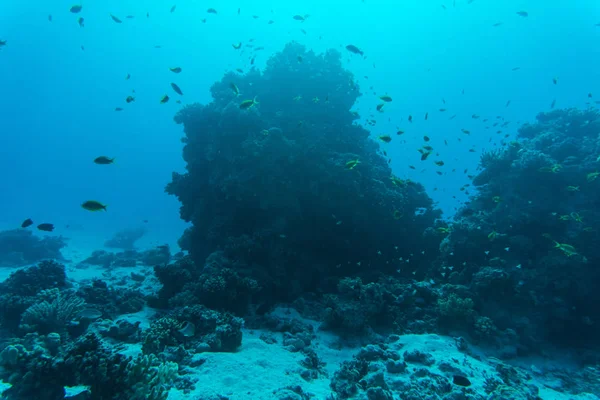
<path id="1" fill-rule="evenodd" d="M 163 189 L 172 171 L 184 169 L 182 127 L 173 122 L 181 105 L 175 100 L 209 102 L 209 88 L 224 72 L 250 67 L 248 49 L 232 47 L 249 39 L 265 47 L 258 68 L 292 40 L 316 52 L 342 51 L 364 94 L 354 109 L 363 121 L 377 119 L 374 137 L 393 136 L 382 147 L 395 174 L 425 184 L 447 216 L 465 200 L 459 190 L 468 183 L 463 171 L 474 172 L 483 149 L 501 145 L 505 133 L 514 137 L 521 123 L 553 100 L 557 108 L 600 100 L 597 0 L 457 0 L 455 6 L 452 0 L 105 0 L 84 1 L 80 14 L 69 12 L 73 4 L 0 3 L 0 40 L 7 41 L 0 49 L 2 229 L 32 218 L 54 223 L 54 234 L 100 245 L 119 229 L 146 226 L 149 243 L 174 245 L 185 224 L 178 202 Z M 207 14 L 208 7 L 218 14 Z M 529 16 L 516 14 L 522 10 Z M 111 13 L 123 23 L 113 22 Z M 125 19 L 129 14 L 135 18 Z M 310 17 L 298 22 L 295 14 Z M 348 44 L 366 59 L 348 53 Z M 169 71 L 176 66 L 181 74 Z M 182 88 L 182 97 L 171 82 Z M 164 94 L 171 101 L 160 104 Z M 394 100 L 378 113 L 383 94 Z M 135 102 L 125 102 L 129 95 Z M 485 129 L 496 116 L 510 121 L 502 134 Z M 397 128 L 406 133 L 397 137 Z M 420 162 L 423 135 L 431 137 L 443 168 Z M 100 155 L 116 163 L 95 165 Z M 89 199 L 107 204 L 108 212 L 83 210 L 80 204 Z"/>

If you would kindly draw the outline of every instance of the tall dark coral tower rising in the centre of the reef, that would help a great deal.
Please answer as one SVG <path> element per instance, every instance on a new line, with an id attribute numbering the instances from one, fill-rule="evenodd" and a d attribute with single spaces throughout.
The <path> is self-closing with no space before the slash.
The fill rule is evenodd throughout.
<path id="1" fill-rule="evenodd" d="M 335 290 L 343 276 L 373 281 L 396 271 L 400 257 L 411 258 L 409 275 L 437 248 L 424 233 L 440 213 L 420 184 L 392 176 L 354 123 L 360 93 L 340 58 L 289 44 L 263 73 L 228 73 L 211 103 L 175 118 L 187 172 L 173 174 L 167 192 L 192 223 L 180 244 L 200 269 L 219 252 L 223 265 L 257 282 L 255 301 Z"/>

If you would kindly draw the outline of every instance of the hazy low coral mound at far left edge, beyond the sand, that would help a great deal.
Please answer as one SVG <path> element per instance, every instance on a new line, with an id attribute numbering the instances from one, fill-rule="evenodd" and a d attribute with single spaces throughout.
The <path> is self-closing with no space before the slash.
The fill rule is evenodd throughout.
<path id="1" fill-rule="evenodd" d="M 0 232 L 0 266 L 21 266 L 42 260 L 63 260 L 60 250 L 67 245 L 62 236 L 40 238 L 25 229 Z"/>

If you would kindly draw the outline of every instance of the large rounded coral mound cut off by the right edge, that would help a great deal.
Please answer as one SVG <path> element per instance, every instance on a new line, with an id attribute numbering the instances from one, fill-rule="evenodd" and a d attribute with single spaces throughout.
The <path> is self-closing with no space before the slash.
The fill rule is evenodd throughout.
<path id="1" fill-rule="evenodd" d="M 555 110 L 486 153 L 479 193 L 442 243 L 435 279 L 463 285 L 480 331 L 510 329 L 521 350 L 544 340 L 592 344 L 600 337 L 600 114 Z M 451 267 L 451 268 L 450 268 Z"/>

